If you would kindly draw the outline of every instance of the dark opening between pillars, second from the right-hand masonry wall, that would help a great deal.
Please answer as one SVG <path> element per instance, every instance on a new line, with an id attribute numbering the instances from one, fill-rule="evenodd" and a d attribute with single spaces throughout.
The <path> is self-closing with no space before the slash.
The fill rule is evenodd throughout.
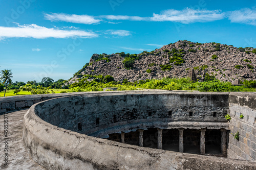
<path id="1" fill-rule="evenodd" d="M 200 154 L 200 136 L 198 129 L 185 129 L 183 134 L 184 153 Z"/>

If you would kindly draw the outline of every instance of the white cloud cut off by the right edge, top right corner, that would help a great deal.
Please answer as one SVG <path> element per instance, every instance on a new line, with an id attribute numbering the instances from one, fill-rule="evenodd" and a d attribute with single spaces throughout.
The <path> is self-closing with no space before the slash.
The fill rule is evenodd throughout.
<path id="1" fill-rule="evenodd" d="M 228 19 L 231 22 L 246 23 L 256 26 L 256 9 L 243 8 L 241 10 L 232 11 Z"/>

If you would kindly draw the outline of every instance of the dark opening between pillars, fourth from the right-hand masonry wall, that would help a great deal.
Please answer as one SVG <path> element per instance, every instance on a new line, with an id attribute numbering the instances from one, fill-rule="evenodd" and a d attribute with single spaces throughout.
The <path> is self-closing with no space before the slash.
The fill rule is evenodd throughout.
<path id="1" fill-rule="evenodd" d="M 143 132 L 143 147 L 157 149 L 157 128 L 148 128 Z"/>

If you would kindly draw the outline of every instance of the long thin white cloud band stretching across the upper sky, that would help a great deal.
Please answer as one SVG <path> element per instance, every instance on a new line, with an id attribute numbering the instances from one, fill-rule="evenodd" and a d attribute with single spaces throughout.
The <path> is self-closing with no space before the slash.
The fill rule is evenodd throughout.
<path id="1" fill-rule="evenodd" d="M 161 12 L 160 14 L 153 13 L 153 16 L 141 17 L 141 16 L 128 16 L 128 15 L 69 15 L 69 14 L 45 14 L 45 18 L 48 20 L 59 20 L 74 23 L 84 24 L 99 24 L 104 19 L 106 20 L 132 20 L 132 21 L 173 21 L 181 23 L 191 22 L 208 22 L 223 19 L 225 16 L 221 10 L 195 10 L 191 8 L 185 8 L 183 10 L 169 9 Z M 109 21 L 108 23 L 115 23 Z"/>

